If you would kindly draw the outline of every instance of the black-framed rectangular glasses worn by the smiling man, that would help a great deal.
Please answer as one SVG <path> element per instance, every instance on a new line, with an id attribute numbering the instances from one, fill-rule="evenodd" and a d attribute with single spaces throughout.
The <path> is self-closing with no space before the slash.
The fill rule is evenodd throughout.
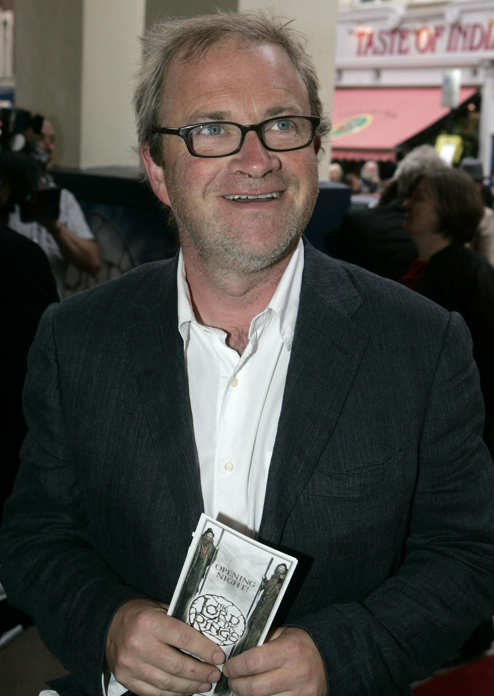
<path id="1" fill-rule="evenodd" d="M 239 152 L 251 130 L 257 133 L 266 150 L 301 150 L 312 143 L 319 121 L 319 116 L 278 116 L 250 126 L 207 121 L 182 128 L 156 128 L 154 132 L 180 136 L 194 157 L 227 157 Z"/>

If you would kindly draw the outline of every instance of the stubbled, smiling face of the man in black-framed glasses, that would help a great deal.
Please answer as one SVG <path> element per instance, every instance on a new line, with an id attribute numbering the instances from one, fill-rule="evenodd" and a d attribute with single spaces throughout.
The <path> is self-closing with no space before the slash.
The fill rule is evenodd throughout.
<path id="1" fill-rule="evenodd" d="M 269 44 L 229 39 L 199 60 L 175 60 L 164 93 L 161 125 L 166 127 L 210 120 L 250 125 L 275 116 L 310 115 L 300 75 L 287 54 Z M 269 152 L 255 132 L 248 132 L 237 154 L 202 159 L 190 155 L 177 136 L 163 137 L 164 172 L 158 168 L 150 180 L 173 209 L 184 254 L 197 251 L 218 269 L 248 273 L 294 248 L 317 198 L 319 141 L 302 150 Z M 272 193 L 280 195 L 228 198 Z"/>

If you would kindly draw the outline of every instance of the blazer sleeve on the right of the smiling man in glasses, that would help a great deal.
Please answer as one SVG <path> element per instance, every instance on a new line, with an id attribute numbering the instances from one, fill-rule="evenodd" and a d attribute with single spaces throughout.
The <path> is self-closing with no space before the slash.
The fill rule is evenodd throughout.
<path id="1" fill-rule="evenodd" d="M 468 330 L 452 314 L 431 383 L 403 562 L 363 601 L 292 623 L 329 696 L 386 696 L 429 676 L 494 612 L 494 465 Z"/>

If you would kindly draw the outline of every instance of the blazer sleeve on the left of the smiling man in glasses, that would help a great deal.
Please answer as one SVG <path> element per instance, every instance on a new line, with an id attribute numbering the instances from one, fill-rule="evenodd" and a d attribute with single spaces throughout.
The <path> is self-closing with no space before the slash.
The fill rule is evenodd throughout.
<path id="1" fill-rule="evenodd" d="M 143 596 L 91 548 L 86 503 L 67 443 L 52 306 L 29 353 L 29 427 L 13 496 L 4 508 L 0 578 L 13 606 L 88 693 L 101 693 L 106 631 L 118 607 Z"/>

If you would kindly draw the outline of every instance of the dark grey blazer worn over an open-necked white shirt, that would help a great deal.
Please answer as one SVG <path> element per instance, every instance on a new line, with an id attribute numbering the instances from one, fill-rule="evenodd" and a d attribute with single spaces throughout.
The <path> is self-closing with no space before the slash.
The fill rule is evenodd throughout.
<path id="1" fill-rule="evenodd" d="M 176 268 L 52 306 L 31 349 L 0 578 L 63 695 L 99 696 L 113 613 L 170 601 L 202 510 Z M 277 623 L 312 635 L 330 696 L 407 693 L 493 613 L 482 418 L 459 315 L 306 244 L 260 538 L 300 560 Z"/>

